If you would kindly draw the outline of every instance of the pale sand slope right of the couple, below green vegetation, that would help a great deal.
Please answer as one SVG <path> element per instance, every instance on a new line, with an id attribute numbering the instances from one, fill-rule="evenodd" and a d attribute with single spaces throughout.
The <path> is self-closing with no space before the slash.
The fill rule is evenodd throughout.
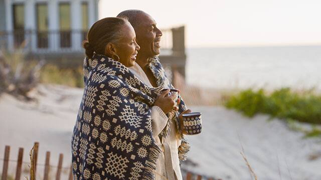
<path id="1" fill-rule="evenodd" d="M 248 159 L 258 179 L 321 179 L 320 138 L 302 138 L 278 119 L 258 115 L 252 119 L 224 107 L 192 107 L 203 112 L 203 131 L 189 136 L 189 170 L 222 179 L 252 179 Z"/>

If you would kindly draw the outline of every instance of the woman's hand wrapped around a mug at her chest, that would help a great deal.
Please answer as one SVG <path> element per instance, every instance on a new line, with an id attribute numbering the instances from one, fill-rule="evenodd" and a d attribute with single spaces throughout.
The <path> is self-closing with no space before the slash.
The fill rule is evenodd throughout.
<path id="1" fill-rule="evenodd" d="M 173 93 L 168 96 L 170 89 L 164 90 L 160 95 L 158 95 L 154 105 L 160 107 L 165 114 L 171 112 L 172 110 L 178 110 L 178 107 L 175 106 L 175 96 L 176 94 Z"/>

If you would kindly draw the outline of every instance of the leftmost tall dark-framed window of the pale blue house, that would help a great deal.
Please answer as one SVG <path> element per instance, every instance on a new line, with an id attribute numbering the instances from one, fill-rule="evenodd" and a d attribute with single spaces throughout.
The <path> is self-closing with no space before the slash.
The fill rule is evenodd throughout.
<path id="1" fill-rule="evenodd" d="M 25 40 L 25 7 L 24 4 L 13 4 L 14 45 L 20 47 Z"/>

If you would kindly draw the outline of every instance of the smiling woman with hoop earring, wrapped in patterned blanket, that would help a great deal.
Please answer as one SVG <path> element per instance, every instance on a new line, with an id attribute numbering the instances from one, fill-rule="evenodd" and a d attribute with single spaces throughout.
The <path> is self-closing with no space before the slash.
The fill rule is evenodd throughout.
<path id="1" fill-rule="evenodd" d="M 72 136 L 74 179 L 154 179 L 162 149 L 151 120 L 177 110 L 174 97 L 127 68 L 140 47 L 126 19 L 98 20 L 87 38 L 85 89 Z"/>

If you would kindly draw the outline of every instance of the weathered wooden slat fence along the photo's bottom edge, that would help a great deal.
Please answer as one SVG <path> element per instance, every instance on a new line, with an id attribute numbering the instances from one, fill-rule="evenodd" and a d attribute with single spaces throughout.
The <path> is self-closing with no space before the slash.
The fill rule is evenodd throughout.
<path id="1" fill-rule="evenodd" d="M 36 179 L 36 174 L 37 174 L 37 166 L 42 165 L 44 166 L 44 180 L 50 179 L 49 177 L 49 171 L 51 167 L 56 167 L 57 172 L 56 172 L 56 180 L 61 179 L 61 171 L 63 168 L 69 168 L 69 175 L 68 175 L 68 180 L 73 179 L 73 174 L 72 174 L 72 166 L 70 167 L 62 167 L 63 163 L 63 157 L 64 155 L 62 153 L 59 154 L 59 160 L 58 160 L 58 165 L 50 165 L 50 151 L 46 152 L 46 160 L 45 163 L 38 163 L 38 148 L 39 148 L 39 143 L 35 142 L 34 147 L 31 149 L 29 155 L 30 155 L 30 162 L 24 162 L 23 161 L 23 154 L 24 154 L 24 148 L 20 147 L 19 152 L 18 152 L 18 158 L 17 160 L 13 160 L 9 158 L 10 155 L 10 146 L 6 145 L 5 147 L 5 155 L 4 158 L 0 158 L 0 160 L 4 161 L 3 164 L 3 170 L 2 170 L 2 180 L 9 180 L 8 176 L 8 168 L 9 168 L 9 162 L 16 162 L 17 163 L 17 168 L 16 168 L 16 176 L 14 177 L 15 180 L 20 180 L 21 179 L 21 172 L 22 172 L 22 164 L 30 164 L 30 180 L 35 180 Z M 186 180 L 201 180 L 203 177 L 202 175 L 198 174 L 193 174 L 192 172 L 187 172 L 186 174 Z M 203 178 L 204 179 L 204 178 Z M 214 180 L 214 178 L 205 178 L 208 180 Z M 219 179 L 220 180 L 220 179 Z"/>

